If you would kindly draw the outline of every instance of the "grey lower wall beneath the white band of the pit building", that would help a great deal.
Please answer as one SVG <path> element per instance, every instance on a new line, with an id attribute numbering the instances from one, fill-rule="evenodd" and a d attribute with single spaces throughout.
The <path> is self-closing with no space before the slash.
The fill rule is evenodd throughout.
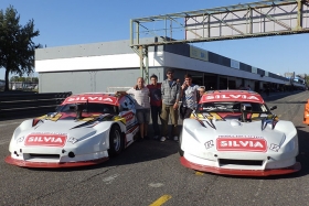
<path id="1" fill-rule="evenodd" d="M 79 94 L 107 91 L 108 87 L 132 87 L 140 74 L 139 68 L 39 73 L 39 93 Z M 166 78 L 162 67 L 150 68 L 149 74 L 156 74 L 159 82 Z"/>

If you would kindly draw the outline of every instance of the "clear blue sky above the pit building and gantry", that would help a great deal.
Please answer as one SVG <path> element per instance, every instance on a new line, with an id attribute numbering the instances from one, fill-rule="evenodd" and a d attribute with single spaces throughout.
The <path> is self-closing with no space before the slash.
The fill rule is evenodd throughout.
<path id="1" fill-rule="evenodd" d="M 66 46 L 130 39 L 130 19 L 212 9 L 257 0 L 1 0 L 0 10 L 10 4 L 20 23 L 33 19 L 43 46 Z M 193 44 L 198 47 L 284 75 L 309 74 L 309 34 L 228 40 Z M 35 73 L 34 76 L 38 76 Z M 4 79 L 4 68 L 0 68 Z"/>

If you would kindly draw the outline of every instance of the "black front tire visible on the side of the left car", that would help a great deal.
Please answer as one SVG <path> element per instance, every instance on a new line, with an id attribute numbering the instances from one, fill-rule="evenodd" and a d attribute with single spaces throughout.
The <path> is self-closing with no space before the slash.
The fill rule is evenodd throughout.
<path id="1" fill-rule="evenodd" d="M 109 149 L 108 155 L 115 156 L 120 154 L 124 148 L 121 130 L 118 124 L 113 124 L 109 132 Z"/>

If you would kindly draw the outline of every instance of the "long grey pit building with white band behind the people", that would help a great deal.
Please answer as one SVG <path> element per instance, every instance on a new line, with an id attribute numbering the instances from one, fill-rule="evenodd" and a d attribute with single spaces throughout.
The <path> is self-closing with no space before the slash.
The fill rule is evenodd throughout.
<path id="1" fill-rule="evenodd" d="M 39 91 L 78 94 L 134 86 L 141 76 L 140 59 L 129 44 L 127 40 L 35 50 Z M 193 83 L 206 90 L 249 85 L 260 91 L 266 85 L 279 88 L 287 82 L 285 77 L 189 44 L 151 46 L 148 52 L 149 76 L 156 74 L 159 82 L 166 78 L 168 68 L 173 68 L 174 77 L 181 82 L 190 73 Z"/>

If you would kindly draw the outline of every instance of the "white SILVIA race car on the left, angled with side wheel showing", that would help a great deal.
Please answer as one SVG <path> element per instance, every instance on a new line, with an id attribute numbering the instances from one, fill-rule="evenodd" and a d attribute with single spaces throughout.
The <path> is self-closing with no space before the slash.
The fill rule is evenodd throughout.
<path id="1" fill-rule="evenodd" d="M 55 112 L 23 121 L 6 162 L 24 167 L 71 167 L 102 163 L 131 144 L 139 131 L 129 96 L 81 94 Z"/>

